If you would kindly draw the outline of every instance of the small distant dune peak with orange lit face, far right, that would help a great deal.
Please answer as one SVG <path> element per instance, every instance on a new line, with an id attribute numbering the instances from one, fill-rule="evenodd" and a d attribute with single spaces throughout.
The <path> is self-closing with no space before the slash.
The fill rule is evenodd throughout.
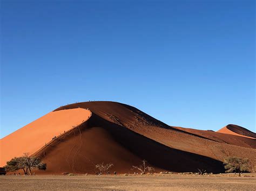
<path id="1" fill-rule="evenodd" d="M 238 125 L 232 125 L 232 124 L 227 125 L 227 126 L 224 126 L 224 128 L 220 129 L 217 132 L 256 139 L 256 133 L 249 131 L 245 128 L 242 128 L 241 126 L 238 126 Z"/>

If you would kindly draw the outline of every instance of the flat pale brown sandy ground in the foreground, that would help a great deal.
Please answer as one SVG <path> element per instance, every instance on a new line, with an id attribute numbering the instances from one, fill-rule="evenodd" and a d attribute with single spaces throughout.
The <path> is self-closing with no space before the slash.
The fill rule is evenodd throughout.
<path id="1" fill-rule="evenodd" d="M 256 177 L 177 174 L 0 176 L 0 185 L 1 190 L 256 190 Z"/>

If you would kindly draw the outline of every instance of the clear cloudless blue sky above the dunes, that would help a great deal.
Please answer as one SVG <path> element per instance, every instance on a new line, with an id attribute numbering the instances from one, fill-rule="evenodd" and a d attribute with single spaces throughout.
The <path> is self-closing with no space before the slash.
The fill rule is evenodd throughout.
<path id="1" fill-rule="evenodd" d="M 255 132 L 254 1 L 1 1 L 1 136 L 60 105 Z"/>

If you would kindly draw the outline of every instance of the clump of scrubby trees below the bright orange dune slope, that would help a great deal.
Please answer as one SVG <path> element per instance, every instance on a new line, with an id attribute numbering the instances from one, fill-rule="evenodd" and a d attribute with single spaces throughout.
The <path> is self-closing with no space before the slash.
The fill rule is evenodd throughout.
<path id="1" fill-rule="evenodd" d="M 28 172 L 32 175 L 32 169 L 45 170 L 46 164 L 44 164 L 39 157 L 30 156 L 28 153 L 24 153 L 23 157 L 15 157 L 6 162 L 4 168 L 7 172 L 23 169 L 25 175 L 28 174 Z"/>

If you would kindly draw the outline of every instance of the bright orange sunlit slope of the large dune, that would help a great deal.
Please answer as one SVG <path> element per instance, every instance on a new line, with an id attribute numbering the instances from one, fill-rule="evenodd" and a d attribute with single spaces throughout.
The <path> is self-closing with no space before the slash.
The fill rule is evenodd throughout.
<path id="1" fill-rule="evenodd" d="M 82 108 L 49 112 L 49 114 L 2 138 L 0 140 L 0 166 L 4 166 L 6 161 L 20 157 L 25 152 L 32 154 L 38 151 L 53 137 L 83 123 L 90 115 L 89 110 Z"/>

